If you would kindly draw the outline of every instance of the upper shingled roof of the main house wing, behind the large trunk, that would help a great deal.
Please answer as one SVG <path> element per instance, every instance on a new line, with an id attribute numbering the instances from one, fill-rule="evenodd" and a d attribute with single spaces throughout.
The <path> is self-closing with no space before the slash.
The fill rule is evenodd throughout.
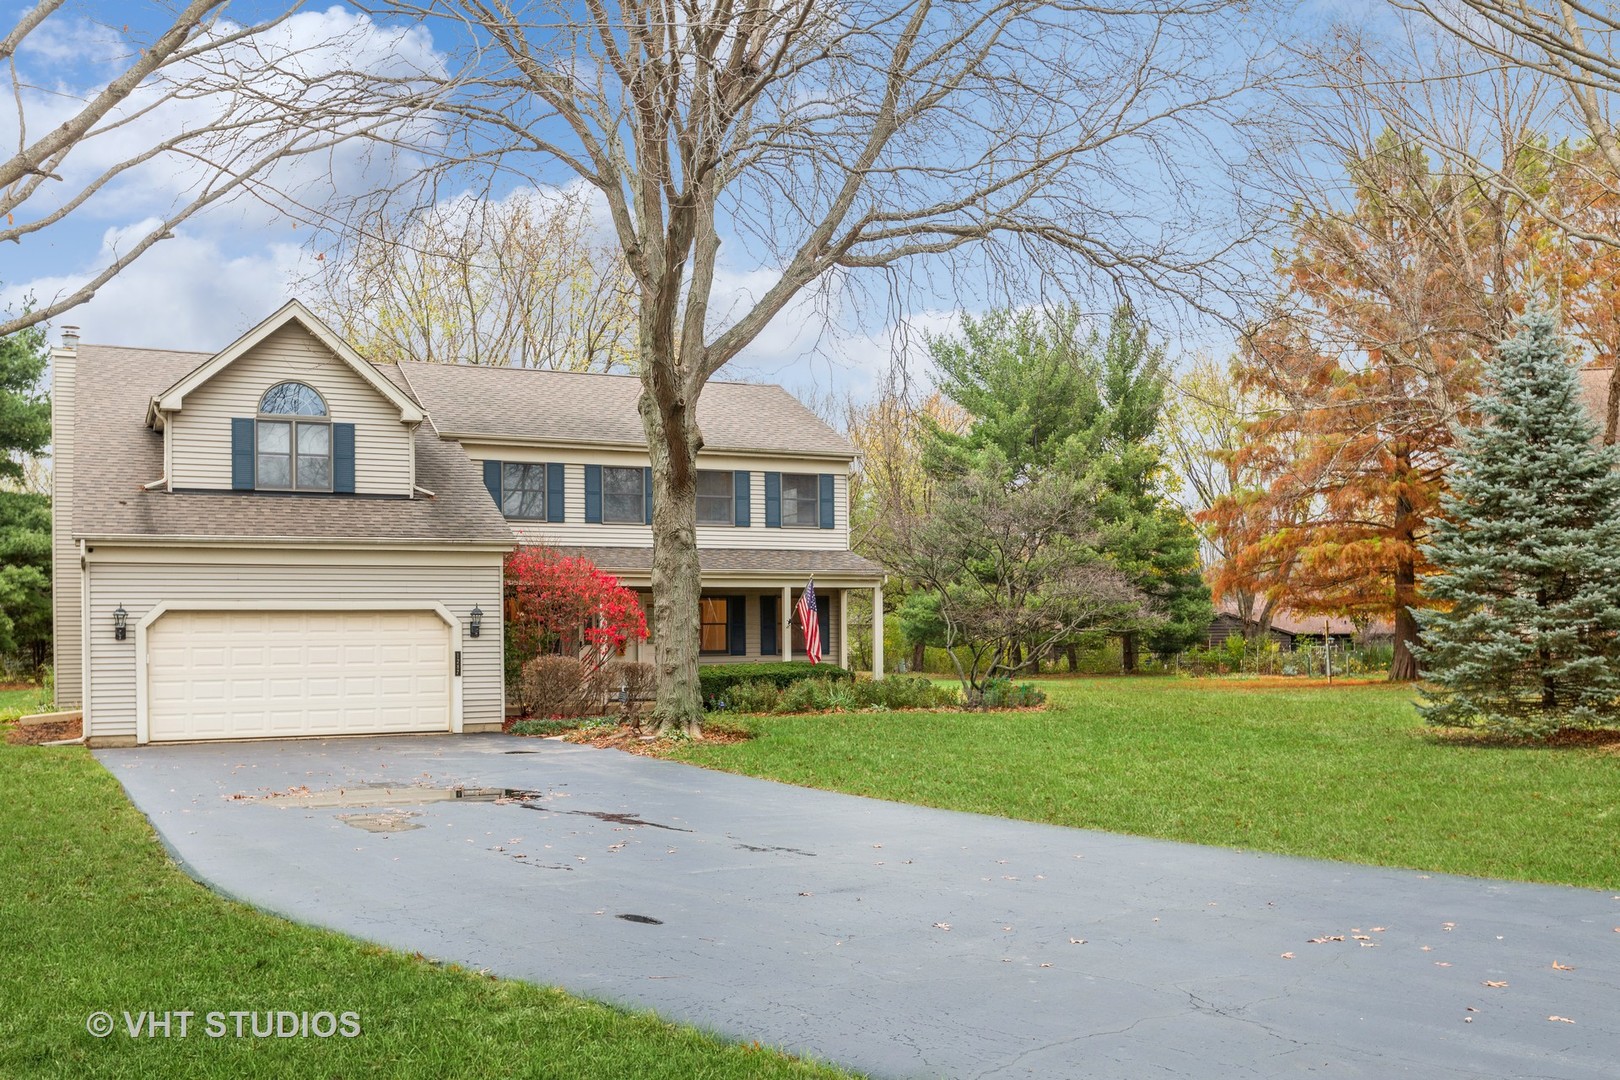
<path id="1" fill-rule="evenodd" d="M 633 376 L 470 364 L 400 368 L 441 434 L 646 445 L 635 406 L 642 382 Z M 774 385 L 710 382 L 698 398 L 698 427 L 706 450 L 855 457 L 849 439 Z"/>

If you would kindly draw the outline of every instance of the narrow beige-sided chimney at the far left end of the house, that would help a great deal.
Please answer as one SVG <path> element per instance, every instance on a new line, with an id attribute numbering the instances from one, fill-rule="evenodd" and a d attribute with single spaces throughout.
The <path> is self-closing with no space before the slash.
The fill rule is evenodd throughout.
<path id="1" fill-rule="evenodd" d="M 76 708 L 84 698 L 84 623 L 79 591 L 79 549 L 73 542 L 73 410 L 78 356 L 50 353 L 50 604 L 52 664 L 57 708 Z"/>

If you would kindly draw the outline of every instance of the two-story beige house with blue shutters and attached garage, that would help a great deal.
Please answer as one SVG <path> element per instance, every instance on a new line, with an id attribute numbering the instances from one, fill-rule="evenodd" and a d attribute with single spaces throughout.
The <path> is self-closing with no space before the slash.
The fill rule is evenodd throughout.
<path id="1" fill-rule="evenodd" d="M 633 377 L 371 364 L 296 301 L 219 353 L 65 337 L 52 364 L 57 704 L 96 745 L 496 730 L 509 551 L 648 588 Z M 698 423 L 679 631 L 792 659 L 813 578 L 847 662 L 847 593 L 883 588 L 849 551 L 852 447 L 779 387 L 711 384 Z"/>

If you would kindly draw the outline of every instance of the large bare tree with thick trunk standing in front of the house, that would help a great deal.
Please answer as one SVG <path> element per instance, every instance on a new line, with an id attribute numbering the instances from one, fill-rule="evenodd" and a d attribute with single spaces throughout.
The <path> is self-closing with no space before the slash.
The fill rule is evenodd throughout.
<path id="1" fill-rule="evenodd" d="M 1267 76 L 1236 0 L 397 0 L 465 31 L 458 164 L 601 191 L 635 280 L 666 725 L 697 732 L 695 408 L 795 296 L 909 270 L 1207 303 L 1199 175 Z M 1192 165 L 1196 162 L 1196 165 Z M 1228 225 L 1228 227 L 1223 227 Z M 723 241 L 763 285 L 716 300 Z"/>

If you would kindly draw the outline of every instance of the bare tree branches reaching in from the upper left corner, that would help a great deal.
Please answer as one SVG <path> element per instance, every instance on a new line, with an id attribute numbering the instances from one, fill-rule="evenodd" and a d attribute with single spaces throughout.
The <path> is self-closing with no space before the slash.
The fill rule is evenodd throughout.
<path id="1" fill-rule="evenodd" d="M 113 240 L 83 282 L 0 319 L 0 335 L 86 303 L 209 206 L 243 193 L 266 196 L 288 162 L 358 136 L 390 138 L 420 115 L 423 91 L 439 86 L 395 58 L 379 94 L 376 71 L 350 66 L 360 39 L 376 29 L 364 19 L 301 42 L 285 32 L 296 3 L 251 23 L 232 21 L 228 0 L 152 6 L 159 28 L 146 37 L 70 23 L 65 0 L 39 0 L 0 39 L 11 96 L 0 104 L 0 138 L 15 141 L 11 157 L 0 160 L 0 243 L 24 251 L 52 243 L 125 183 L 160 178 L 160 186 L 175 188 L 172 202 Z M 18 52 L 52 31 L 75 37 L 76 66 L 39 86 L 19 68 Z M 110 78 L 68 89 L 75 76 L 104 65 Z"/>

